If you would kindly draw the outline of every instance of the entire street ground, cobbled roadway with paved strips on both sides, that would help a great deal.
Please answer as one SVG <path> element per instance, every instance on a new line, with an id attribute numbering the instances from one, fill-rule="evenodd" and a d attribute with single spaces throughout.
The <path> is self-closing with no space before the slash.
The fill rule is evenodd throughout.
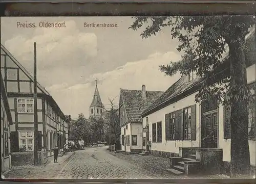
<path id="1" fill-rule="evenodd" d="M 114 153 L 107 147 L 92 147 L 75 151 L 67 160 L 49 162 L 46 166 L 19 166 L 5 174 L 5 178 L 26 179 L 168 179 L 195 178 L 173 175 L 165 170 L 168 160 L 161 157 Z M 196 178 L 227 178 L 223 175 Z"/>

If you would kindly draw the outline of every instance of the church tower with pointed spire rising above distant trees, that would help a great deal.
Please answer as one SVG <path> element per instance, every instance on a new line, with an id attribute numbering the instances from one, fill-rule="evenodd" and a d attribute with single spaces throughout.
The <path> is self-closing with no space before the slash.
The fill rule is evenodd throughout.
<path id="1" fill-rule="evenodd" d="M 90 106 L 90 118 L 100 118 L 101 114 L 104 112 L 104 106 L 101 102 L 99 90 L 97 87 L 97 80 L 95 80 L 95 91 L 93 95 L 93 101 Z"/>

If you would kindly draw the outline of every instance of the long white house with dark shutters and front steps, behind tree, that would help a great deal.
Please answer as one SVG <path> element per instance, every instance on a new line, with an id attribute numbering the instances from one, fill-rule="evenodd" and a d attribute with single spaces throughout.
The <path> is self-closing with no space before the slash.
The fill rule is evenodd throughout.
<path id="1" fill-rule="evenodd" d="M 247 38 L 247 46 L 247 84 L 255 94 L 255 32 Z M 228 62 L 227 57 L 223 63 Z M 223 64 L 221 74 L 229 73 L 224 68 L 227 64 Z M 143 127 L 149 130 L 149 135 L 143 133 L 143 137 L 151 141 L 152 154 L 186 157 L 179 162 L 173 158 L 170 171 L 174 173 L 186 172 L 189 163 L 186 167 L 184 161 L 198 162 L 203 151 L 214 152 L 212 155 L 219 155 L 222 163 L 230 163 L 230 110 L 222 104 L 218 106 L 214 99 L 195 102 L 202 81 L 193 72 L 182 76 L 142 113 Z M 250 162 L 255 167 L 255 101 L 249 102 L 248 118 Z M 184 155 L 186 150 L 190 153 Z"/>

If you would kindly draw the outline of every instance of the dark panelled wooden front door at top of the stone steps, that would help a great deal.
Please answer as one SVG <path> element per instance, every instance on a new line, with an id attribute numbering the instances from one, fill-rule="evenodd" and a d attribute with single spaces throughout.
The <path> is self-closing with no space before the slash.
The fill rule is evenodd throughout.
<path id="1" fill-rule="evenodd" d="M 205 113 L 202 116 L 202 148 L 218 147 L 218 114 Z"/>

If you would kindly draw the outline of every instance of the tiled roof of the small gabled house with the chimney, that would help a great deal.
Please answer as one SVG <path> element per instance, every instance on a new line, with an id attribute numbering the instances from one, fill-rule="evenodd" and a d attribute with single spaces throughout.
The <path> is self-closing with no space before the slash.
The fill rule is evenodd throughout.
<path id="1" fill-rule="evenodd" d="M 163 94 L 162 91 L 146 91 L 146 99 L 143 100 L 141 90 L 121 89 L 120 93 L 128 121 L 141 121 L 140 114 Z"/>

